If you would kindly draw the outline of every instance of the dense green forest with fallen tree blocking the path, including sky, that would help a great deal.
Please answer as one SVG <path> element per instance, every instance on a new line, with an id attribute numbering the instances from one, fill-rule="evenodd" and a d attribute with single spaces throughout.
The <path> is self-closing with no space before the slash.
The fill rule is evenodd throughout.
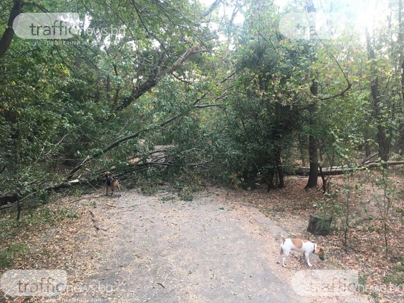
<path id="1" fill-rule="evenodd" d="M 55 19 L 46 27 L 37 13 L 67 14 L 72 34 L 55 35 Z M 372 188 L 381 246 L 394 255 L 403 14 L 402 0 L 2 0 L 2 216 L 100 188 L 106 171 L 145 192 L 288 193 L 288 176 L 300 176 L 301 194 L 320 191 L 317 211 L 338 218 L 345 251 L 350 203 Z"/>

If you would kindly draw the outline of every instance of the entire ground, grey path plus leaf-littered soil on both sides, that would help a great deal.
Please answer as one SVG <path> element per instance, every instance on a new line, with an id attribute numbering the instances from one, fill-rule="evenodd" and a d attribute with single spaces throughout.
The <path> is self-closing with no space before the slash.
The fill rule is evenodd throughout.
<path id="1" fill-rule="evenodd" d="M 394 262 L 384 254 L 380 222 L 359 217 L 364 203 L 368 218 L 376 211 L 372 201 L 365 199 L 352 207 L 356 223 L 349 230 L 345 252 L 338 229 L 328 236 L 306 231 L 309 214 L 318 212 L 323 200 L 319 191 L 302 190 L 306 182 L 288 178 L 284 190 L 269 193 L 264 188 L 207 188 L 191 201 L 181 200 L 170 187 L 153 195 L 123 190 L 114 197 L 99 189 L 43 206 L 43 213 L 52 207 L 52 214 L 63 216 L 57 222 L 26 225 L 17 237 L 6 236 L 1 245 L 10 241 L 29 247 L 14 256 L 8 269 L 66 270 L 70 288 L 59 297 L 62 302 L 402 301 L 402 286 L 388 288 L 385 281 L 394 272 Z M 333 182 L 336 187 L 344 184 L 342 177 L 334 177 Z M 397 246 L 402 244 L 401 223 L 392 221 L 390 244 L 402 253 L 403 246 Z M 362 293 L 318 296 L 319 289 L 314 289 L 310 296 L 296 294 L 293 277 L 308 268 L 293 252 L 287 268 L 276 264 L 280 234 L 321 244 L 326 260 L 312 256 L 313 269 L 356 270 Z M 3 301 L 24 300 L 0 293 Z"/>

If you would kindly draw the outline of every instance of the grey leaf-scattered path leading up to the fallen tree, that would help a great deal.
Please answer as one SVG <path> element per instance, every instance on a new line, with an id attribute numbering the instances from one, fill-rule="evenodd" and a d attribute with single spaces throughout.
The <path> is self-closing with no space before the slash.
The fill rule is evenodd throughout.
<path id="1" fill-rule="evenodd" d="M 155 196 L 126 192 L 100 198 L 91 212 L 100 229 L 89 227 L 92 232 L 81 239 L 92 268 L 82 284 L 93 288 L 76 292 L 71 299 L 325 301 L 294 294 L 290 277 L 295 271 L 275 262 L 279 244 L 274 237 L 287 233 L 257 208 L 228 201 L 225 191 L 202 192 L 192 201 L 167 192 Z M 312 259 L 315 267 L 321 262 Z"/>

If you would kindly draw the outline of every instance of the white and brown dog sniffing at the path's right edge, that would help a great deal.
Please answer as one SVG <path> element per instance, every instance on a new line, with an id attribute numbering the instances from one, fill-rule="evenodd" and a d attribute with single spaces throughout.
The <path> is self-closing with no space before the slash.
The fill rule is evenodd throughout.
<path id="1" fill-rule="evenodd" d="M 286 267 L 285 261 L 290 254 L 290 250 L 296 250 L 298 252 L 302 252 L 303 258 L 305 259 L 307 266 L 309 267 L 312 267 L 309 261 L 309 256 L 311 254 L 316 254 L 317 256 L 319 256 L 320 260 L 324 261 L 324 250 L 323 248 L 320 247 L 320 245 L 317 245 L 308 240 L 285 238 L 282 235 L 281 237 L 282 237 L 282 243 L 280 245 L 281 250 L 279 251 L 279 256 L 278 259 L 276 260 L 276 263 L 279 263 L 279 258 L 283 255 L 282 259 L 283 267 Z"/>

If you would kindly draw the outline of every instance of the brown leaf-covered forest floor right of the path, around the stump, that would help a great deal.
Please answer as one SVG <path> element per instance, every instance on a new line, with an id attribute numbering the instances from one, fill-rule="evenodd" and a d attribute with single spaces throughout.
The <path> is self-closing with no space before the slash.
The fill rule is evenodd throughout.
<path id="1" fill-rule="evenodd" d="M 274 190 L 264 198 L 259 191 L 251 192 L 260 210 L 290 235 L 309 238 L 325 247 L 325 268 L 357 271 L 359 289 L 373 301 L 404 301 L 404 180 L 391 177 L 391 199 L 383 199 L 383 190 L 377 186 L 378 174 L 356 173 L 347 181 L 343 176 L 332 177 L 332 195 L 326 200 L 321 190 L 302 190 L 307 178 L 290 178 L 285 190 Z M 321 180 L 319 179 L 319 186 Z M 349 183 L 349 184 L 348 184 Z M 344 245 L 344 220 L 346 218 L 346 194 L 349 186 L 349 224 Z M 290 190 L 293 192 L 291 194 Z M 388 202 L 390 204 L 388 204 Z M 309 215 L 330 214 L 330 205 L 338 207 L 340 216 L 334 220 L 331 233 L 314 236 L 307 231 Z M 388 253 L 386 254 L 383 220 L 381 214 L 388 209 Z M 297 264 L 294 268 L 299 268 Z"/>

